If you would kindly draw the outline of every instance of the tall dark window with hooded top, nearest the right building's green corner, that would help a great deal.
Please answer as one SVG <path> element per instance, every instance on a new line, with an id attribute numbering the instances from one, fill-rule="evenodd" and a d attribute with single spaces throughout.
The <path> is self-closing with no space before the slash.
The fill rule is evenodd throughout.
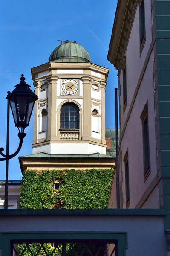
<path id="1" fill-rule="evenodd" d="M 150 151 L 149 151 L 149 136 L 148 136 L 148 115 L 147 104 L 141 113 L 142 133 L 143 133 L 143 157 L 144 157 L 144 181 L 150 174 Z"/>

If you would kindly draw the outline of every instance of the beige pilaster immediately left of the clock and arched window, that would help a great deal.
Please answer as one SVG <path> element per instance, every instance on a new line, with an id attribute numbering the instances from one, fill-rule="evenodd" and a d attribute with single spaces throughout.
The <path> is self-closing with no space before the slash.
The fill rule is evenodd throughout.
<path id="1" fill-rule="evenodd" d="M 57 97 L 57 80 L 58 76 L 52 75 L 46 79 L 48 86 L 48 125 L 47 141 L 56 140 L 56 97 Z"/>

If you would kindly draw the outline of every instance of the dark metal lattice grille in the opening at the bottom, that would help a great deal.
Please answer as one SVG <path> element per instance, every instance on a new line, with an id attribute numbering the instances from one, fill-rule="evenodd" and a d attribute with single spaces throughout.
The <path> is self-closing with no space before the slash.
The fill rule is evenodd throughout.
<path id="1" fill-rule="evenodd" d="M 51 243 L 12 244 L 12 256 L 117 256 L 117 243 L 71 243 L 52 241 Z"/>

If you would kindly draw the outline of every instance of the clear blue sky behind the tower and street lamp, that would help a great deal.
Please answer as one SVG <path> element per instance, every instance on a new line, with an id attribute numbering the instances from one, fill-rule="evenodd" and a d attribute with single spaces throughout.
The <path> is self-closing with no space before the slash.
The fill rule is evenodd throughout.
<path id="1" fill-rule="evenodd" d="M 30 68 L 48 62 L 57 41 L 77 41 L 88 52 L 92 63 L 109 68 L 106 87 L 106 128 L 115 128 L 115 87 L 117 71 L 107 61 L 115 16 L 116 0 L 5 0 L 0 12 L 0 147 L 6 147 L 7 91 L 14 90 L 21 73 L 32 90 Z M 33 114 L 26 128 L 23 147 L 9 161 L 9 179 L 22 178 L 18 156 L 32 154 Z M 18 130 L 11 115 L 10 149 L 18 146 Z M 0 162 L 0 180 L 5 179 L 5 162 Z"/>

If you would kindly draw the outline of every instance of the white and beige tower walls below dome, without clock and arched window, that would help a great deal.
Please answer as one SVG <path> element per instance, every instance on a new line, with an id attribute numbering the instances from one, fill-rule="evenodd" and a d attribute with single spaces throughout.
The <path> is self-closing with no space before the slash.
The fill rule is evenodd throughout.
<path id="1" fill-rule="evenodd" d="M 91 63 L 51 62 L 32 68 L 35 93 L 39 97 L 35 106 L 33 154 L 106 154 L 105 86 L 108 72 L 107 68 Z M 62 92 L 61 84 L 65 79 L 76 80 L 79 89 L 75 94 L 67 95 Z M 41 88 L 43 83 L 47 83 L 45 91 Z M 93 84 L 98 89 L 94 90 Z M 60 130 L 60 110 L 66 102 L 73 102 L 79 107 L 78 131 Z M 42 125 L 43 108 L 48 114 L 46 123 Z M 92 115 L 94 109 L 98 110 L 97 116 Z M 43 127 L 43 131 L 39 126 Z"/>

